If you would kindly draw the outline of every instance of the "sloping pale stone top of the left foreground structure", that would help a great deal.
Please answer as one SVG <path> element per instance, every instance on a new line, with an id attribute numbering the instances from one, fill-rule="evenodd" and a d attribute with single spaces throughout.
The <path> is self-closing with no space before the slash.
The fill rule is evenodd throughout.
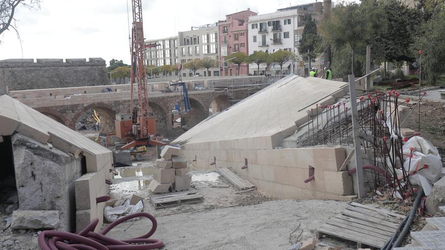
<path id="1" fill-rule="evenodd" d="M 65 125 L 22 104 L 9 95 L 0 96 L 0 135 L 18 132 L 46 144 L 50 138 L 62 141 L 63 146 L 74 146 L 92 155 L 110 152 L 107 148 L 86 138 Z M 61 144 L 53 144 L 59 148 Z M 62 151 L 65 151 L 61 149 Z"/>

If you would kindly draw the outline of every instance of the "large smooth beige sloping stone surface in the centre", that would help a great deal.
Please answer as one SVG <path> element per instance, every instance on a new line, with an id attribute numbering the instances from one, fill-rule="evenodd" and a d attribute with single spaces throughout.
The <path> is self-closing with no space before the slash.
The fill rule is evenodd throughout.
<path id="1" fill-rule="evenodd" d="M 307 119 L 306 110 L 315 109 L 319 103 L 332 104 L 333 96 L 340 92 L 342 96 L 346 87 L 345 82 L 289 75 L 202 121 L 171 143 L 292 134 L 297 128 L 297 121 Z"/>

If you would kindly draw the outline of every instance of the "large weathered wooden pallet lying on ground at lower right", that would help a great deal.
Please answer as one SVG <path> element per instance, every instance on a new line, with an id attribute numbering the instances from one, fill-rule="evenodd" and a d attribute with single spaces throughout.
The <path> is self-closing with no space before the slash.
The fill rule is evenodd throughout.
<path id="1" fill-rule="evenodd" d="M 384 209 L 351 203 L 317 230 L 317 238 L 330 235 L 357 242 L 358 248 L 362 245 L 381 248 L 404 218 Z"/>

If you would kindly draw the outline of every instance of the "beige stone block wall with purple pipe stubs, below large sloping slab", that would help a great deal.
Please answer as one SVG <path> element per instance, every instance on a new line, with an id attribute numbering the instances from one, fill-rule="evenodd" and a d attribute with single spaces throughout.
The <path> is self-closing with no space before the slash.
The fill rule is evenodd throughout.
<path id="1" fill-rule="evenodd" d="M 268 140 L 263 138 L 263 148 Z M 255 140 L 257 139 L 257 140 Z M 269 137 L 270 140 L 270 137 Z M 250 144 L 255 143 L 256 145 Z M 345 160 L 342 147 L 254 149 L 258 138 L 186 143 L 183 153 L 198 169 L 231 167 L 258 188 L 279 198 L 349 200 L 352 180 L 339 172 Z M 192 162 L 195 160 L 196 162 Z M 216 158 L 216 165 L 210 166 Z M 248 168 L 242 170 L 247 159 Z M 304 183 L 312 173 L 315 180 Z"/>

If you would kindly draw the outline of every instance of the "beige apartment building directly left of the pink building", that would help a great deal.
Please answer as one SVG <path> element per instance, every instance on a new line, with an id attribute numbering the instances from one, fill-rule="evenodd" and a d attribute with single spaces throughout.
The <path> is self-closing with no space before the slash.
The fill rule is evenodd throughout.
<path id="1" fill-rule="evenodd" d="M 196 59 L 209 57 L 219 61 L 219 30 L 218 24 L 206 24 L 192 27 L 189 31 L 178 32 L 178 58 L 181 64 L 186 64 Z M 196 74 L 202 76 L 219 76 L 219 66 L 209 69 L 199 69 Z M 190 70 L 183 70 L 183 76 L 193 76 Z"/>

